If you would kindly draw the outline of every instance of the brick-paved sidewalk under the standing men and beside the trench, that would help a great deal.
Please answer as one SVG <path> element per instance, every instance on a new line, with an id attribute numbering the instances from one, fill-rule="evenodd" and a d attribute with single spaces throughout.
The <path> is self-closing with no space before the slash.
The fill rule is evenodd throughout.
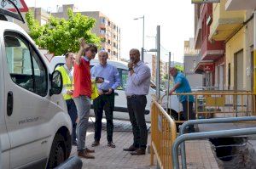
<path id="1" fill-rule="evenodd" d="M 132 144 L 133 135 L 131 132 L 130 121 L 114 120 L 113 142 L 116 144 L 115 149 L 107 146 L 106 123 L 102 122 L 102 139 L 101 144 L 96 148 L 91 148 L 94 141 L 94 127 L 90 122 L 87 131 L 86 146 L 95 149 L 96 156 L 94 160 L 82 159 L 83 168 L 85 169 L 155 169 L 156 158 L 154 156 L 154 166 L 150 166 L 150 154 L 130 155 L 129 152 L 123 151 Z M 149 125 L 147 125 L 149 127 Z M 148 145 L 150 144 L 150 133 L 148 133 Z M 76 147 L 73 146 L 71 155 L 76 155 Z M 218 169 L 217 161 L 214 157 L 212 147 L 207 140 L 195 140 L 186 142 L 187 168 L 188 169 Z M 181 161 L 180 165 L 181 165 Z"/>

